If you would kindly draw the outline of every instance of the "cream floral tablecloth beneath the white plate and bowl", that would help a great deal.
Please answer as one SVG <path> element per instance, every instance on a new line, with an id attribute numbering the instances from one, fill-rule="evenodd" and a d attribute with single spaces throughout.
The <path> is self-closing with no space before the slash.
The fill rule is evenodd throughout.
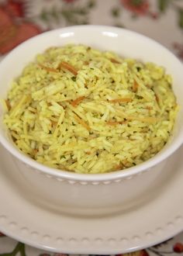
<path id="1" fill-rule="evenodd" d="M 31 36 L 80 24 L 135 30 L 164 44 L 183 60 L 183 0 L 0 0 L 0 59 Z M 183 233 L 128 255 L 166 254 L 183 254 Z M 0 255 L 66 254 L 41 251 L 0 233 Z"/>

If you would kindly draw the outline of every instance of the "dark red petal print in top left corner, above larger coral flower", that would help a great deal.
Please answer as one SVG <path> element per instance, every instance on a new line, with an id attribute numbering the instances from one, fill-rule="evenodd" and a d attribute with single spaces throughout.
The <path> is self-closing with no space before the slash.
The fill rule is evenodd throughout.
<path id="1" fill-rule="evenodd" d="M 12 17 L 23 17 L 25 15 L 25 2 L 23 0 L 9 0 L 4 5 L 5 12 Z"/>

